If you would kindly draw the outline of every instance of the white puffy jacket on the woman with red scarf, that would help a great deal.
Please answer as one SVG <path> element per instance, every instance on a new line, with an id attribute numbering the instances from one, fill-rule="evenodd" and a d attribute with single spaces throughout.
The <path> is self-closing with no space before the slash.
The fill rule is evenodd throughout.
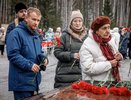
<path id="1" fill-rule="evenodd" d="M 118 52 L 113 39 L 110 40 L 109 44 L 114 53 Z M 80 64 L 83 80 L 114 80 L 111 74 L 111 63 L 102 54 L 99 43 L 95 42 L 91 32 L 80 49 Z"/>

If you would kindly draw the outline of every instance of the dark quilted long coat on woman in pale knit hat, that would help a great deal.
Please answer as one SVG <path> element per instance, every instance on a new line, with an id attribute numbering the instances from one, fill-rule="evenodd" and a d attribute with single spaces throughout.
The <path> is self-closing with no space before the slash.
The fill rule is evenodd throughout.
<path id="1" fill-rule="evenodd" d="M 63 32 L 60 38 L 61 46 L 56 46 L 54 55 L 58 59 L 54 88 L 65 87 L 82 79 L 79 60 L 74 59 L 74 53 L 78 53 L 84 40 L 73 38 L 68 32 Z"/>

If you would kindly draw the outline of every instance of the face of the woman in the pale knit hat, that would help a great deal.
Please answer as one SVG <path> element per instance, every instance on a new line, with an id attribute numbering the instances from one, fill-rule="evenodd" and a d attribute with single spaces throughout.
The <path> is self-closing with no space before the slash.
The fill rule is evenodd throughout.
<path id="1" fill-rule="evenodd" d="M 83 25 L 83 20 L 79 17 L 77 18 L 74 18 L 72 20 L 72 26 L 75 28 L 75 29 L 81 29 L 82 25 Z"/>

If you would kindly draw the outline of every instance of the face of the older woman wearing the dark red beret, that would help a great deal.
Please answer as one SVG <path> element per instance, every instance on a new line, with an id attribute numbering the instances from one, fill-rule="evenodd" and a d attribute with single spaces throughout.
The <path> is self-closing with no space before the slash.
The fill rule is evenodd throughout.
<path id="1" fill-rule="evenodd" d="M 102 27 L 100 27 L 97 31 L 96 34 L 98 34 L 102 38 L 109 38 L 110 36 L 110 24 L 105 24 Z"/>

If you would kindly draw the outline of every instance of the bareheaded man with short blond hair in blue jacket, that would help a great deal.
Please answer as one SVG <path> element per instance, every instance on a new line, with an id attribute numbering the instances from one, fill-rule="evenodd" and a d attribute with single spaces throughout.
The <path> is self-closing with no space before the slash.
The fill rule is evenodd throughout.
<path id="1" fill-rule="evenodd" d="M 7 38 L 9 91 L 13 91 L 15 100 L 23 100 L 38 92 L 42 67 L 48 64 L 36 31 L 40 20 L 40 10 L 28 8 L 25 20 Z"/>

